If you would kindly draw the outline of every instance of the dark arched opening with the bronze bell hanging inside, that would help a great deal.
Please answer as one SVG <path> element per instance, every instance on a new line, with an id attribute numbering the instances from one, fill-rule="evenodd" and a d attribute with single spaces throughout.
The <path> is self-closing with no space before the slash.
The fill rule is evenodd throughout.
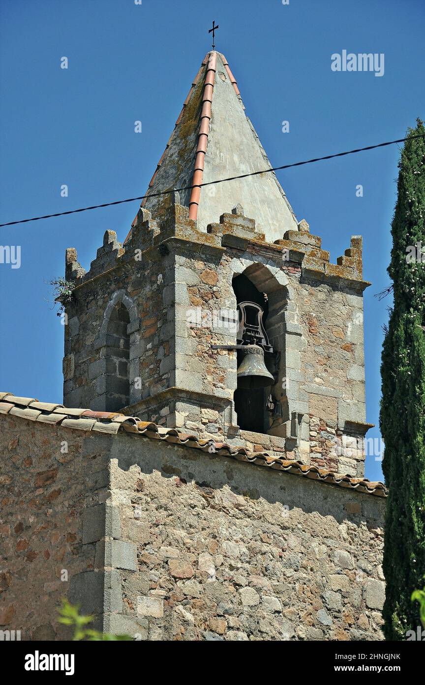
<path id="1" fill-rule="evenodd" d="M 238 381 L 234 391 L 234 408 L 241 429 L 266 433 L 270 425 L 267 401 L 275 384 L 275 358 L 266 332 L 269 301 L 249 278 L 240 274 L 232 281 L 238 308 L 236 343 Z"/>

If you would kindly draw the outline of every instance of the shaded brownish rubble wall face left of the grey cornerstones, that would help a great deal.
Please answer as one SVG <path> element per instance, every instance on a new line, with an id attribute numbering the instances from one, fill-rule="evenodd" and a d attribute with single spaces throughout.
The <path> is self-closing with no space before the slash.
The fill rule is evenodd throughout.
<path id="1" fill-rule="evenodd" d="M 96 547 L 82 544 L 83 511 L 105 499 L 108 439 L 98 435 L 92 449 L 85 431 L 0 421 L 0 630 L 68 639 L 57 607 L 74 577 L 93 576 Z M 102 594 L 102 573 L 97 580 Z"/>

